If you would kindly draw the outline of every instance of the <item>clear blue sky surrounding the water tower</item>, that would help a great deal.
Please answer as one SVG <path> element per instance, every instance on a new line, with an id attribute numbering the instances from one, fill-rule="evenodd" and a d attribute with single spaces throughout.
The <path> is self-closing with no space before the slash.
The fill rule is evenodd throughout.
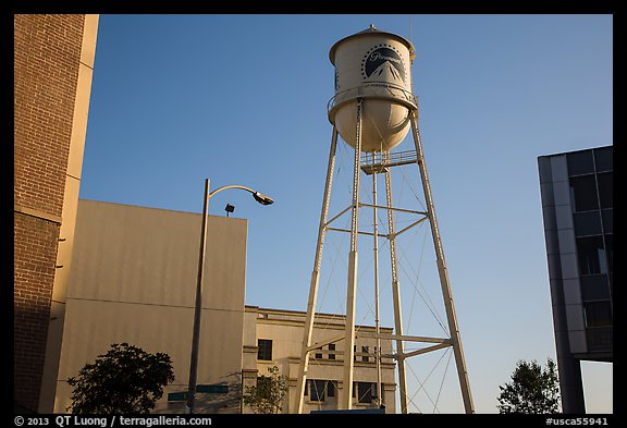
<path id="1" fill-rule="evenodd" d="M 495 413 L 518 359 L 555 359 L 537 158 L 613 144 L 611 15 L 100 15 L 81 197 L 200 212 L 206 178 L 271 195 L 260 207 L 223 193 L 210 213 L 229 203 L 248 219 L 246 304 L 304 310 L 332 131 L 329 49 L 370 23 L 416 47 L 414 93 L 470 386 L 476 411 Z M 340 154 L 351 159 L 342 142 Z M 396 179 L 401 198 L 420 189 L 414 173 Z M 430 253 L 416 229 L 403 252 L 418 270 Z M 329 265 L 346 258 L 342 245 L 327 244 Z M 331 297 L 345 295 L 339 278 L 322 282 L 320 310 L 342 307 Z M 404 314 L 430 278 L 407 289 Z M 433 401 L 462 412 L 446 358 L 442 394 L 415 395 L 421 412 Z M 428 377 L 419 365 L 415 384 Z M 612 365 L 586 363 L 583 377 L 589 412 L 612 412 Z"/>

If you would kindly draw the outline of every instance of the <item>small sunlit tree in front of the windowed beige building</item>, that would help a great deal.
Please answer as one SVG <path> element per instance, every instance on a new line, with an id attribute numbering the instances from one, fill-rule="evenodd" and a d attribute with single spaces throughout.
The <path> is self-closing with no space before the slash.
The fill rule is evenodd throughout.
<path id="1" fill-rule="evenodd" d="M 279 375 L 279 367 L 268 367 L 270 376 L 257 378 L 257 384 L 246 387 L 243 394 L 244 404 L 253 408 L 254 413 L 275 414 L 283 407 L 287 395 L 287 378 Z"/>

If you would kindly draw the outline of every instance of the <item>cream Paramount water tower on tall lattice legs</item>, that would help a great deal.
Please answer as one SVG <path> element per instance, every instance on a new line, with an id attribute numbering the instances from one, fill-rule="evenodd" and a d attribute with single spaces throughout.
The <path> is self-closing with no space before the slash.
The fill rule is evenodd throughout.
<path id="1" fill-rule="evenodd" d="M 394 359 L 397 367 L 398 388 L 402 413 L 408 412 L 407 380 L 405 360 L 416 355 L 422 355 L 431 351 L 452 347 L 455 356 L 455 365 L 459 380 L 459 389 L 466 413 L 474 413 L 472 398 L 468 383 L 466 363 L 444 250 L 435 220 L 435 211 L 427 166 L 418 131 L 418 101 L 411 90 L 411 63 L 414 60 L 413 45 L 398 35 L 386 33 L 370 25 L 369 28 L 345 37 L 335 42 L 329 52 L 331 63 L 335 66 L 335 95 L 329 101 L 329 121 L 333 125 L 331 149 L 327 168 L 327 182 L 324 197 L 320 215 L 318 241 L 311 273 L 307 316 L 300 352 L 297 401 L 292 408 L 293 413 L 303 412 L 304 393 L 306 388 L 307 371 L 310 353 L 321 345 L 331 343 L 312 343 L 314 319 L 316 315 L 316 302 L 320 280 L 322 247 L 328 231 L 340 231 L 333 228 L 333 221 L 343 213 L 351 212 L 351 228 L 344 232 L 349 233 L 351 243 L 348 252 L 348 279 L 346 286 L 346 321 L 342 338 L 335 338 L 333 342 L 343 342 L 343 378 L 342 389 L 337 400 L 337 407 L 352 408 L 352 388 L 355 362 L 355 340 L 358 337 L 355 331 L 356 289 L 357 289 L 357 240 L 359 235 L 373 236 L 374 252 L 374 295 L 376 295 L 376 338 L 377 340 L 391 340 L 395 343 L 396 352 Z M 408 150 L 393 150 L 399 146 L 411 131 L 414 145 Z M 337 148 L 337 136 L 347 143 L 354 150 L 352 162 L 353 187 L 352 201 L 348 207 L 329 220 L 329 201 L 333 185 L 333 171 Z M 364 159 L 365 158 L 365 159 Z M 420 172 L 420 182 L 423 191 L 426 210 L 407 210 L 395 207 L 392 197 L 392 170 L 397 167 L 416 164 Z M 384 175 L 385 204 L 377 201 L 377 176 Z M 359 187 L 361 175 L 372 178 L 372 204 L 364 204 L 359 200 Z M 388 220 L 388 233 L 382 234 L 378 230 L 377 220 L 373 221 L 372 231 L 365 232 L 359 228 L 359 211 L 361 208 L 372 210 L 373 218 L 377 212 L 385 212 Z M 399 211 L 410 211 L 418 216 L 415 223 L 403 230 L 395 230 L 395 215 Z M 401 284 L 398 280 L 398 256 L 396 254 L 396 237 L 404 231 L 423 221 L 430 223 L 430 232 L 435 250 L 438 278 L 445 307 L 446 323 L 450 337 L 422 337 L 408 335 L 403 332 L 401 314 Z M 379 283 L 378 283 L 378 247 L 379 240 L 386 239 L 391 262 L 391 290 L 394 306 L 394 334 L 384 334 L 379 329 Z M 372 335 L 371 335 L 372 337 Z M 405 352 L 404 344 L 407 342 L 420 342 L 426 344 L 419 351 Z M 378 346 L 381 350 L 381 346 Z M 377 358 L 377 370 L 380 374 L 380 358 Z M 380 375 L 378 375 L 380 377 Z M 378 380 L 378 388 L 380 381 Z M 381 396 L 378 391 L 377 396 Z"/>

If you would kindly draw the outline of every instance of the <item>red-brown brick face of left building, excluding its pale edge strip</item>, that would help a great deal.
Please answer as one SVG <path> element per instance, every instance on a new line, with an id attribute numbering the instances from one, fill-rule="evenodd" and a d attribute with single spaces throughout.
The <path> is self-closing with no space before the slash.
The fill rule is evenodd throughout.
<path id="1" fill-rule="evenodd" d="M 14 16 L 14 403 L 37 409 L 84 15 Z"/>

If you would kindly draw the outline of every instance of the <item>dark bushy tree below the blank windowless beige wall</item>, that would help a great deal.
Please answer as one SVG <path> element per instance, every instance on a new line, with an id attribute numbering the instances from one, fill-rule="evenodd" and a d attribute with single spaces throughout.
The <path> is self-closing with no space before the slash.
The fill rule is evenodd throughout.
<path id="1" fill-rule="evenodd" d="M 104 355 L 87 364 L 78 377 L 67 379 L 74 388 L 67 411 L 77 414 L 146 414 L 174 380 L 168 354 L 150 354 L 128 343 L 114 343 Z"/>

